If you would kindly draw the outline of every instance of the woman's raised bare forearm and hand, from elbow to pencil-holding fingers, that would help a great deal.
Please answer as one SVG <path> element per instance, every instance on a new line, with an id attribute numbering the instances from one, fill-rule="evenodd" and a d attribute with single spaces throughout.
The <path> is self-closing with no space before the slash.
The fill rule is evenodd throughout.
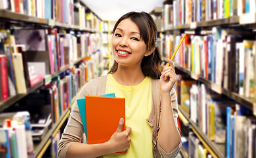
<path id="1" fill-rule="evenodd" d="M 175 125 L 170 94 L 178 77 L 175 73 L 173 63 L 171 61 L 169 61 L 169 63 L 170 66 L 163 69 L 160 77 L 161 115 L 158 142 L 165 153 L 171 153 L 181 143 L 181 136 Z"/>

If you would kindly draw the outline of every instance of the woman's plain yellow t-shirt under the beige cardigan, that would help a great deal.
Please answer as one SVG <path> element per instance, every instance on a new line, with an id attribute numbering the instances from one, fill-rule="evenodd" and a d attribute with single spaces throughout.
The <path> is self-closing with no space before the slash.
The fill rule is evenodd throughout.
<path id="1" fill-rule="evenodd" d="M 152 131 L 146 121 L 152 106 L 150 78 L 146 77 L 136 86 L 122 86 L 114 80 L 112 74 L 108 74 L 106 93 L 115 93 L 116 97 L 125 98 L 126 126 L 130 126 L 132 131 L 130 149 L 125 154 L 111 153 L 103 157 L 154 157 Z"/>

